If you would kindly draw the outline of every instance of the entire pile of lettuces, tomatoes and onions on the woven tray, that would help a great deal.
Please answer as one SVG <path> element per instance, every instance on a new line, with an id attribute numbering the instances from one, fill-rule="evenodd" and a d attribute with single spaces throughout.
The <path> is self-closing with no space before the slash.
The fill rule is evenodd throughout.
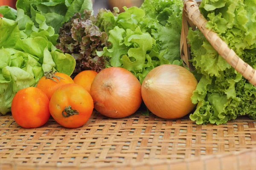
<path id="1" fill-rule="evenodd" d="M 253 68 L 255 6 L 255 0 L 200 5 L 207 28 Z M 42 117 L 27 125 L 14 116 L 23 127 L 43 125 L 49 113 L 64 127 L 80 127 L 93 108 L 123 118 L 142 102 L 165 119 L 185 116 L 196 106 L 190 119 L 197 124 L 219 125 L 241 115 L 256 119 L 256 88 L 200 31 L 188 34 L 195 72 L 181 66 L 182 0 L 145 0 L 122 13 L 115 7 L 93 14 L 91 0 L 17 0 L 16 7 L 0 7 L 0 113 L 12 109 L 20 115 L 24 106 Z M 40 95 L 19 104 L 21 96 L 36 91 Z M 44 109 L 31 110 L 29 104 L 40 104 L 37 99 L 44 100 Z"/>

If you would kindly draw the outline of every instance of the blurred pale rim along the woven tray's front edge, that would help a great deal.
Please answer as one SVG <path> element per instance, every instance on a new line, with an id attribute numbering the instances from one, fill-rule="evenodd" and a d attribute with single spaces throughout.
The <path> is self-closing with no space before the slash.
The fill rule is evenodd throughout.
<path id="1" fill-rule="evenodd" d="M 212 154 L 212 155 L 204 155 L 204 156 L 198 156 L 198 157 L 193 157 L 190 159 L 177 159 L 177 160 L 144 160 L 142 162 L 134 162 L 132 164 L 130 163 L 124 163 L 124 164 L 118 164 L 118 163 L 102 163 L 102 164 L 88 164 L 88 165 L 61 165 L 61 164 L 55 164 L 55 165 L 49 165 L 49 164 L 22 164 L 22 163 L 18 163 L 15 160 L 12 161 L 2 161 L 0 160 L 0 167 L 1 165 L 7 165 L 7 166 L 12 166 L 12 167 L 27 167 L 27 168 L 124 168 L 124 167 L 130 167 L 130 168 L 137 168 L 137 167 L 145 167 L 145 166 L 162 166 L 163 164 L 166 165 L 175 165 L 175 164 L 186 164 L 189 166 L 189 164 L 192 164 L 194 162 L 198 162 L 198 164 L 203 164 L 203 166 L 207 163 L 207 161 L 210 160 L 215 160 L 217 159 L 218 161 L 221 161 L 221 159 L 224 158 L 230 158 L 229 161 L 225 161 L 225 162 L 221 162 L 222 165 L 224 164 L 230 164 L 233 162 L 236 162 L 236 160 L 238 159 L 238 156 L 244 155 L 246 154 L 247 156 L 256 156 L 256 147 L 252 148 L 252 149 L 243 149 L 240 151 L 231 151 L 229 153 L 219 153 L 219 154 Z M 251 154 L 251 155 L 249 155 Z M 250 164 L 247 164 L 250 165 Z"/>

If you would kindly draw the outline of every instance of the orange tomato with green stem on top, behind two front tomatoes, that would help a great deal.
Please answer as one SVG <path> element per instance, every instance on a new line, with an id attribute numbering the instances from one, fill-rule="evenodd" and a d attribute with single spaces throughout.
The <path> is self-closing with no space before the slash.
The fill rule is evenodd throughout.
<path id="1" fill-rule="evenodd" d="M 74 83 L 74 81 L 67 74 L 49 71 L 38 81 L 36 87 L 44 91 L 50 100 L 57 88 L 70 83 Z"/>

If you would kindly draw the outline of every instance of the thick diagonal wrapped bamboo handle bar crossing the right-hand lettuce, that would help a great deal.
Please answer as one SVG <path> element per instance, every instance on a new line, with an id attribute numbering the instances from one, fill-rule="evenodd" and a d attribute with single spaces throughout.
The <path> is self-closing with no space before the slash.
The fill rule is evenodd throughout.
<path id="1" fill-rule="evenodd" d="M 207 20 L 201 14 L 195 0 L 184 0 L 184 11 L 189 20 L 204 34 L 218 54 L 224 58 L 236 71 L 243 75 L 252 85 L 256 86 L 256 71 L 244 62 L 238 55 L 230 49 L 228 45 L 218 37 L 214 31 L 206 28 Z"/>

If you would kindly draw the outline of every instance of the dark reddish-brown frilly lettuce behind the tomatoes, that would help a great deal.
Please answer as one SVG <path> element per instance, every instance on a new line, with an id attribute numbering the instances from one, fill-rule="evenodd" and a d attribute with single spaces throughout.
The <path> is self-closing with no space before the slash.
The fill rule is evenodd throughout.
<path id="1" fill-rule="evenodd" d="M 108 65 L 108 57 L 99 57 L 96 51 L 102 51 L 108 46 L 108 36 L 95 25 L 97 18 L 85 10 L 85 16 L 75 14 L 73 18 L 60 28 L 60 43 L 56 45 L 64 53 L 76 59 L 76 68 L 72 74 L 75 77 L 84 70 L 101 71 Z M 67 61 L 68 62 L 68 61 Z"/>

